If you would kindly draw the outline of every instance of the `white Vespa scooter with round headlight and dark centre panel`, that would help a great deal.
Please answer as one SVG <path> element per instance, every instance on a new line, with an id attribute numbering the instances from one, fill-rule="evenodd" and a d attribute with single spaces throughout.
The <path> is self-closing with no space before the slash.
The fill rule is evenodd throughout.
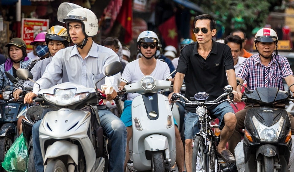
<path id="1" fill-rule="evenodd" d="M 144 76 L 125 86 L 126 93 L 139 93 L 132 102 L 133 141 L 130 140 L 128 171 L 170 172 L 175 164 L 175 124 L 168 97 L 157 94 L 171 88 L 171 81 Z"/>

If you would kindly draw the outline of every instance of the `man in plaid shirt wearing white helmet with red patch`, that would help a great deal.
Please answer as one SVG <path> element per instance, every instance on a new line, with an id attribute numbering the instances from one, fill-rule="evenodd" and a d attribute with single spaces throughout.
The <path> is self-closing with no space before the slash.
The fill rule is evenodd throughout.
<path id="1" fill-rule="evenodd" d="M 290 64 L 287 58 L 279 55 L 277 52 L 277 33 L 270 28 L 260 29 L 255 35 L 254 42 L 258 53 L 243 61 L 236 75 L 240 83 L 242 84 L 246 80 L 248 90 L 255 90 L 257 87 L 275 87 L 279 88 L 279 90 L 284 90 L 282 79 L 285 79 L 288 86 L 292 85 L 294 83 L 294 77 Z M 242 95 L 241 90 L 241 86 L 237 86 L 239 95 Z M 294 87 L 290 87 L 290 90 L 293 93 Z M 239 101 L 241 101 L 241 96 Z M 246 105 L 243 110 L 236 113 L 236 130 L 228 142 L 231 151 L 241 141 L 239 129 L 244 128 L 244 120 L 249 108 L 252 108 L 252 106 Z M 288 115 L 291 120 L 291 131 L 293 133 L 294 117 L 289 113 Z"/>

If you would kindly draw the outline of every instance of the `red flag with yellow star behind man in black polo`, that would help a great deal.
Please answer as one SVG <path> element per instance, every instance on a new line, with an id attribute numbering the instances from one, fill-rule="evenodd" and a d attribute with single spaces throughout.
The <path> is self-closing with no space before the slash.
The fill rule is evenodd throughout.
<path id="1" fill-rule="evenodd" d="M 170 17 L 167 21 L 158 27 L 158 30 L 166 45 L 178 47 L 178 30 L 175 23 L 175 16 Z"/>

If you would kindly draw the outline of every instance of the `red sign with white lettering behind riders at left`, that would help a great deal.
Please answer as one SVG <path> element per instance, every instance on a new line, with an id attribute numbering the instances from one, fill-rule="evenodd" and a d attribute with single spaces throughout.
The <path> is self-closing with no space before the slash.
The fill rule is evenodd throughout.
<path id="1" fill-rule="evenodd" d="M 40 32 L 47 32 L 48 29 L 49 19 L 22 18 L 21 38 L 27 45 L 27 52 L 33 50 L 33 46 L 30 43 L 34 40 L 35 36 Z"/>

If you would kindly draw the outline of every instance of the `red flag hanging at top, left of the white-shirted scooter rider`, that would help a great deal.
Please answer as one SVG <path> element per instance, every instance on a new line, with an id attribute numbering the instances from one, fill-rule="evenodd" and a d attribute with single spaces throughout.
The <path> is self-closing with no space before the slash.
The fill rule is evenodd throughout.
<path id="1" fill-rule="evenodd" d="M 125 29 L 124 43 L 127 44 L 132 40 L 132 21 L 133 21 L 133 8 L 132 0 L 123 0 L 123 5 L 119 11 L 119 15 L 116 20 Z"/>

